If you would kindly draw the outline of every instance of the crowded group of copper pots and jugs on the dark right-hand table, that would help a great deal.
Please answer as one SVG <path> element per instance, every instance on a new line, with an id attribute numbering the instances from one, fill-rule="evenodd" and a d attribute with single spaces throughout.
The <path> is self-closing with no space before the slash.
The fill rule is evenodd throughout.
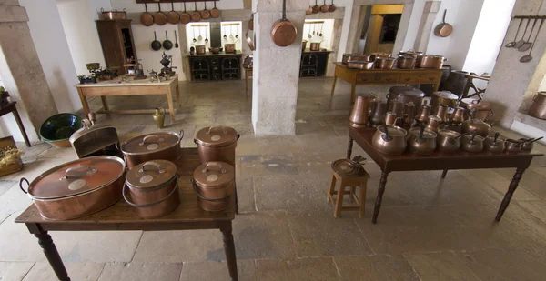
<path id="1" fill-rule="evenodd" d="M 372 146 L 388 155 L 460 150 L 520 153 L 530 151 L 532 144 L 541 139 L 504 140 L 498 133 L 489 136 L 492 123 L 487 118 L 492 114 L 488 102 L 460 101 L 450 92 L 436 92 L 430 105 L 429 98 L 421 93 L 408 86 L 393 86 L 387 103 L 380 95 L 357 96 L 349 125 L 357 129 L 376 127 Z"/>

